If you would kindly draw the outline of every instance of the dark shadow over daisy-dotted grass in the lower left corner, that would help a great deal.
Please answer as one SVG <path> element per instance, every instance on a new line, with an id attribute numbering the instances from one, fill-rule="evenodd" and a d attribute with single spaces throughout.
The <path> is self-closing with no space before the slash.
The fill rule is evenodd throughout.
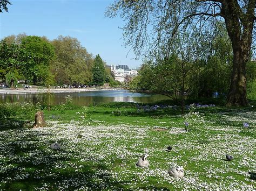
<path id="1" fill-rule="evenodd" d="M 102 162 L 82 162 L 77 158 L 79 151 L 51 150 L 50 140 L 40 145 L 44 133 L 31 131 L 25 135 L 5 140 L 0 147 L 5 156 L 0 157 L 0 177 L 4 180 L 0 180 L 0 189 L 34 190 L 45 184 L 48 189 L 125 189 L 125 183 L 129 183 L 113 179 L 105 171 L 110 167 Z"/>

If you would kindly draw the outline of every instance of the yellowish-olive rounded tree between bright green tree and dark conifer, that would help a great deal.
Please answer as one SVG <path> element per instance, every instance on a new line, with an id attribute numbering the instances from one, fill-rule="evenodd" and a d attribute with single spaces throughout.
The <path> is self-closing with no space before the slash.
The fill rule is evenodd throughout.
<path id="1" fill-rule="evenodd" d="M 89 84 L 92 81 L 92 55 L 76 38 L 59 36 L 52 41 L 56 60 L 51 71 L 57 84 Z"/>

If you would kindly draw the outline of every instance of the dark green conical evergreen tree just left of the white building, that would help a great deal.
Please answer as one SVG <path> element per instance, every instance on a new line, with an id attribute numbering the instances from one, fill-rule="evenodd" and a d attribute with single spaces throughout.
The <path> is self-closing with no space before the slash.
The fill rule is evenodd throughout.
<path id="1" fill-rule="evenodd" d="M 96 55 L 96 58 L 92 67 L 92 83 L 97 86 L 102 86 L 106 79 L 105 67 L 102 58 L 99 54 Z"/>

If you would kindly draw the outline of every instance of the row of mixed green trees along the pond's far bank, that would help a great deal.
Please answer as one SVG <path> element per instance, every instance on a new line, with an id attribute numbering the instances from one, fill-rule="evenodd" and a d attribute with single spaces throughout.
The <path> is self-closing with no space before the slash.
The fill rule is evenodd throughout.
<path id="1" fill-rule="evenodd" d="M 0 80 L 14 87 L 18 80 L 33 84 L 90 84 L 113 82 L 105 62 L 88 53 L 76 38 L 59 36 L 5 37 L 0 42 Z"/>

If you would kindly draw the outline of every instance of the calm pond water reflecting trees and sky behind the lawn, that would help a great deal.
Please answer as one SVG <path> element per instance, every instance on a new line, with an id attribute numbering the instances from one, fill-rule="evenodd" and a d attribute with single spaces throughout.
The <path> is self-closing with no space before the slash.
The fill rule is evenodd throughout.
<path id="1" fill-rule="evenodd" d="M 134 102 L 152 103 L 167 100 L 169 97 L 159 94 L 132 93 L 128 90 L 102 90 L 102 91 L 81 91 L 73 93 L 51 94 L 51 105 L 65 103 L 65 97 L 70 96 L 76 105 L 97 105 L 109 102 Z M 24 93 L 24 94 L 0 94 L 0 102 L 39 102 L 49 104 L 47 93 Z"/>

